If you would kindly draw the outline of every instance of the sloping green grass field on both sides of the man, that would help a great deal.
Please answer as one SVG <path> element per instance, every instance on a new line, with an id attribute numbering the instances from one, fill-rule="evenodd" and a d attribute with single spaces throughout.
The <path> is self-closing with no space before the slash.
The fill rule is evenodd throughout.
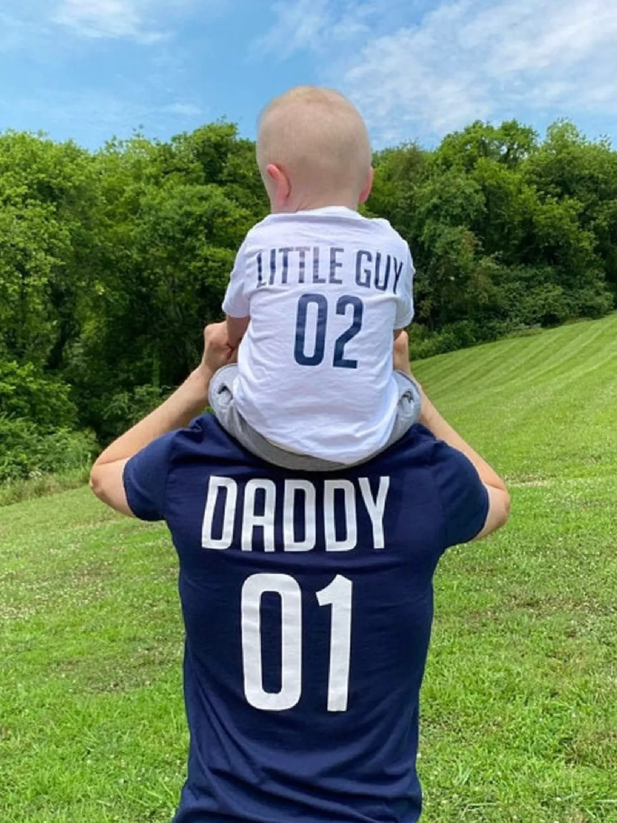
<path id="1" fill-rule="evenodd" d="M 508 478 L 450 551 L 423 692 L 427 823 L 617 821 L 617 315 L 418 363 Z M 0 509 L 0 821 L 167 823 L 187 746 L 164 528 L 89 491 Z"/>

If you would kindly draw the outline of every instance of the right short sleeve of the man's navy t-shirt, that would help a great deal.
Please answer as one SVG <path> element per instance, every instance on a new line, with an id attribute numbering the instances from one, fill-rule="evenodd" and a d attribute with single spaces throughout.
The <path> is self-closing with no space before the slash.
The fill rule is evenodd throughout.
<path id="1" fill-rule="evenodd" d="M 446 544 L 468 543 L 482 531 L 489 514 L 489 492 L 469 458 L 440 443 L 433 466 L 444 518 Z"/>

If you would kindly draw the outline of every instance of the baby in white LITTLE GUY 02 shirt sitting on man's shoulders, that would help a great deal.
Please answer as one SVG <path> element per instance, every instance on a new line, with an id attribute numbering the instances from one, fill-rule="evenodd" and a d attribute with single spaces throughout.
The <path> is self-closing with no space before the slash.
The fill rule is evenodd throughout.
<path id="1" fill-rule="evenodd" d="M 405 434 L 420 394 L 392 368 L 411 323 L 405 240 L 360 216 L 373 184 L 364 120 L 336 91 L 302 86 L 262 114 L 257 162 L 271 214 L 239 249 L 223 310 L 238 365 L 211 383 L 221 425 L 270 463 L 328 471 Z"/>

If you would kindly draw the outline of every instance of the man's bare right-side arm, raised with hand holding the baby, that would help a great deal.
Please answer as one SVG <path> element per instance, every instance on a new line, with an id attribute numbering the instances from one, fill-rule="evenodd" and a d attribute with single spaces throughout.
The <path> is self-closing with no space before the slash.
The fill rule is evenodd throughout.
<path id="1" fill-rule="evenodd" d="M 394 368 L 399 371 L 404 371 L 411 375 L 409 365 L 409 338 L 406 334 L 401 334 L 394 344 Z M 414 378 L 415 379 L 415 378 Z M 418 383 L 418 381 L 415 381 Z M 480 457 L 471 446 L 462 439 L 461 435 L 455 431 L 449 423 L 439 414 L 433 403 L 424 394 L 424 390 L 418 383 L 420 392 L 422 394 L 422 412 L 420 414 L 420 423 L 434 434 L 438 440 L 443 440 L 453 449 L 462 452 L 471 464 L 476 468 L 476 472 L 480 476 L 480 481 L 484 484 L 486 491 L 489 494 L 489 514 L 486 518 L 484 528 L 480 534 L 477 535 L 476 540 L 481 540 L 482 537 L 497 529 L 502 528 L 508 522 L 510 515 L 510 495 L 505 483 L 494 471 L 485 459 Z"/>

